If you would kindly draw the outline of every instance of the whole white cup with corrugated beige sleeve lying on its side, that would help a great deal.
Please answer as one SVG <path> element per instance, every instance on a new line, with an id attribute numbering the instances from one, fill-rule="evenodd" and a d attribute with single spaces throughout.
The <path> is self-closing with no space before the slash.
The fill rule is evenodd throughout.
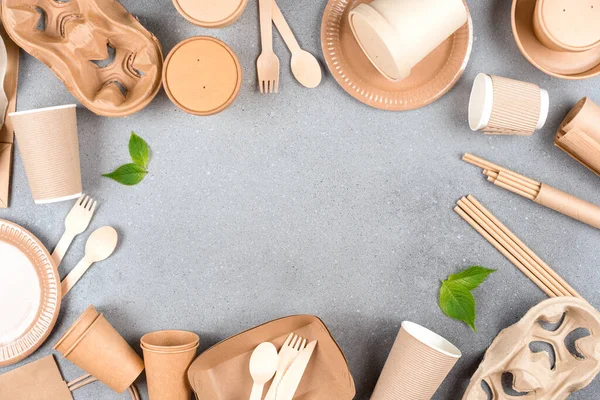
<path id="1" fill-rule="evenodd" d="M 480 73 L 469 100 L 469 126 L 490 134 L 530 136 L 548 118 L 550 97 L 539 86 Z"/>

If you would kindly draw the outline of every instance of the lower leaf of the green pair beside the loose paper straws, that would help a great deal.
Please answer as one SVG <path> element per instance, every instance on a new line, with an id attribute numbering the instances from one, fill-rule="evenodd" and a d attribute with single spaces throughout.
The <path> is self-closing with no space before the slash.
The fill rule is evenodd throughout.
<path id="1" fill-rule="evenodd" d="M 475 328 L 475 298 L 460 283 L 442 281 L 440 288 L 440 308 L 450 318 L 457 319 Z"/>

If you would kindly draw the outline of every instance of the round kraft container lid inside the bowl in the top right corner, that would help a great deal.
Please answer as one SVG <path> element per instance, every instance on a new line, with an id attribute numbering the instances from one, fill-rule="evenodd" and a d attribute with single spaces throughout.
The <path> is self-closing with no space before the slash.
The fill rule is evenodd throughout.
<path id="1" fill-rule="evenodd" d="M 600 0 L 538 0 L 537 18 L 548 38 L 570 51 L 600 45 Z"/>

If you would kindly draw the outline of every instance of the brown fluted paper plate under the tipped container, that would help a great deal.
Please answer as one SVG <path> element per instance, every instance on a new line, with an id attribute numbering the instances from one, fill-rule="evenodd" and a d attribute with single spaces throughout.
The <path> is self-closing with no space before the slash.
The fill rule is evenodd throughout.
<path id="1" fill-rule="evenodd" d="M 331 74 L 352 97 L 383 110 L 413 110 L 433 103 L 460 79 L 473 47 L 468 22 L 417 64 L 408 78 L 391 82 L 371 64 L 356 42 L 348 14 L 365 0 L 329 0 L 321 25 L 321 46 Z M 469 8 L 465 3 L 467 12 Z"/>

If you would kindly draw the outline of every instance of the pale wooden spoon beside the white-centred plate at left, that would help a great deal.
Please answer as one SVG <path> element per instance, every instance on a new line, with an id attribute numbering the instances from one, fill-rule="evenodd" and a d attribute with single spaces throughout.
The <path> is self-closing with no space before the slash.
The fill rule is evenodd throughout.
<path id="1" fill-rule="evenodd" d="M 88 238 L 85 244 L 85 256 L 83 260 L 73 268 L 71 272 L 62 281 L 62 297 L 65 297 L 69 290 L 77 283 L 93 263 L 106 260 L 115 251 L 119 235 L 117 231 L 110 226 L 103 226 L 96 229 Z"/>

